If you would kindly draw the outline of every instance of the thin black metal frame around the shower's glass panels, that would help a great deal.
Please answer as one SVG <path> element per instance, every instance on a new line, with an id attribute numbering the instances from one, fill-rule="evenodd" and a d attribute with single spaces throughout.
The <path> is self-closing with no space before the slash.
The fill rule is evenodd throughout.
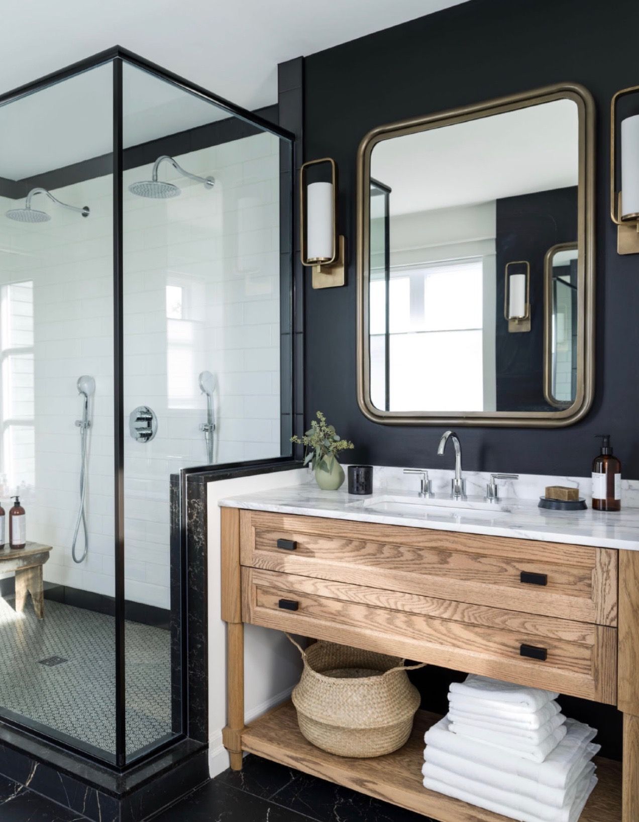
<path id="1" fill-rule="evenodd" d="M 95 754 L 91 754 L 89 752 L 89 746 L 74 746 L 73 741 L 70 739 L 67 743 L 61 742 L 59 737 L 54 737 L 46 732 L 46 728 L 44 726 L 39 726 L 39 723 L 29 723 L 28 725 L 22 724 L 20 718 L 17 716 L 7 717 L 3 715 L 2 722 L 7 723 L 13 727 L 25 729 L 30 733 L 34 733 L 36 736 L 44 737 L 44 739 L 48 741 L 53 741 L 57 745 L 62 745 L 73 750 L 75 753 L 80 753 L 80 755 L 87 757 L 91 760 L 96 760 L 99 764 L 107 765 L 110 768 L 113 768 L 119 772 L 123 772 L 128 768 L 131 768 L 133 765 L 139 765 L 140 762 L 150 755 L 157 755 L 160 751 L 165 750 L 166 748 L 176 744 L 179 741 L 182 741 L 186 737 L 186 729 L 188 728 L 187 723 L 187 712 L 188 712 L 188 690 L 187 686 L 187 679 L 186 679 L 186 650 L 187 650 L 187 640 L 188 637 L 186 635 L 186 627 L 187 627 L 187 618 L 186 618 L 186 541 L 182 538 L 182 556 L 181 556 L 181 581 L 182 581 L 182 596 L 181 596 L 181 614 L 180 614 L 180 625 L 181 625 L 181 651 L 182 651 L 182 733 L 174 735 L 170 740 L 164 741 L 159 743 L 157 746 L 148 746 L 145 751 L 144 755 L 137 756 L 136 759 L 129 759 L 127 760 L 126 757 L 126 644 L 125 644 L 125 543 L 124 543 L 124 386 L 123 386 L 123 376 L 124 376 L 124 368 L 123 368 L 123 359 L 124 359 L 124 351 L 123 351 L 123 305 L 122 305 L 122 285 L 123 285 L 123 277 L 124 277 L 124 264 L 123 264 L 123 183 L 122 183 L 122 173 L 123 173 L 123 158 L 124 158 L 124 148 L 123 148 L 123 112 L 122 112 L 122 67 L 124 62 L 129 63 L 131 66 L 137 67 L 145 72 L 148 72 L 151 75 L 157 76 L 159 80 L 167 81 L 172 83 L 172 85 L 177 85 L 178 87 L 185 90 L 187 93 L 191 95 L 195 95 L 216 105 L 219 109 L 226 110 L 229 115 L 237 118 L 241 118 L 246 122 L 251 123 L 251 125 L 255 125 L 260 127 L 265 132 L 270 132 L 275 136 L 278 136 L 283 141 L 287 141 L 290 145 L 289 157 L 290 157 L 290 169 L 289 169 L 289 198 L 290 198 L 290 207 L 287 208 L 287 214 L 292 214 L 292 190 L 294 187 L 294 169 L 296 168 L 295 165 L 295 151 L 296 151 L 296 144 L 295 144 L 295 136 L 292 132 L 288 132 L 286 129 L 278 127 L 273 122 L 266 120 L 260 115 L 252 113 L 247 109 L 241 108 L 228 99 L 224 99 L 219 95 L 214 94 L 212 91 L 209 91 L 203 88 L 200 85 L 195 83 L 191 83 L 187 81 L 182 76 L 174 74 L 173 72 L 169 72 L 167 69 L 160 67 L 154 62 L 150 62 L 149 60 L 145 60 L 145 58 L 141 58 L 138 54 L 135 54 L 129 51 L 126 48 L 122 48 L 122 46 L 113 46 L 113 48 L 108 48 L 103 52 L 99 52 L 94 54 L 89 58 L 85 58 L 84 60 L 80 60 L 79 62 L 72 63 L 70 66 L 62 68 L 58 72 L 52 72 L 44 77 L 39 78 L 39 80 L 35 80 L 30 83 L 26 83 L 25 85 L 21 85 L 18 88 L 8 91 L 2 95 L 0 95 L 0 106 L 11 103 L 16 99 L 24 97 L 25 95 L 34 94 L 37 91 L 43 90 L 44 88 L 48 87 L 49 85 L 54 85 L 60 83 L 62 81 L 70 79 L 72 76 L 76 76 L 83 72 L 90 71 L 90 69 L 97 68 L 101 65 L 106 65 L 109 62 L 113 63 L 113 366 L 114 366 L 114 375 L 113 375 L 113 412 L 114 412 L 114 533 L 115 533 L 115 682 L 116 682 L 116 704 L 115 704 L 115 711 L 116 711 L 116 754 L 113 760 L 108 760 L 100 755 L 97 751 Z M 290 222 L 290 282 L 291 282 L 291 293 L 289 294 L 289 310 L 290 310 L 290 326 L 292 327 L 292 311 L 294 305 L 294 298 L 293 298 L 293 252 L 295 249 L 295 245 L 293 242 L 293 225 L 292 219 L 289 219 Z M 292 346 L 292 358 L 294 358 L 294 346 Z M 291 363 L 291 397 L 290 397 L 290 411 L 291 411 L 291 418 L 295 419 L 295 375 L 296 372 L 299 370 L 296 368 L 294 362 Z M 291 456 L 282 456 L 275 459 L 270 460 L 256 460 L 255 464 L 259 465 L 261 463 L 270 463 L 270 464 L 287 464 L 291 463 L 297 464 L 293 455 Z M 216 466 L 219 468 L 239 468 L 240 466 L 246 468 L 251 463 L 244 463 L 244 464 L 237 464 L 233 466 Z M 182 482 L 180 483 L 181 487 L 184 488 L 184 480 L 186 478 L 186 474 L 190 473 L 199 473 L 205 472 L 210 470 L 210 466 L 201 466 L 198 468 L 191 468 L 182 471 Z M 182 496 L 182 494 L 181 494 Z M 182 515 L 182 522 L 184 517 Z"/>

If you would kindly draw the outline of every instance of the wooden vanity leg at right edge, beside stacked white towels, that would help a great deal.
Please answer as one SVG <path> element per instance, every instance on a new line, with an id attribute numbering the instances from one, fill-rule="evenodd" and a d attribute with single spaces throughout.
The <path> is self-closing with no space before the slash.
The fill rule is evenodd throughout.
<path id="1" fill-rule="evenodd" d="M 639 820 L 639 551 L 619 551 L 617 707 L 623 711 L 622 822 Z"/>

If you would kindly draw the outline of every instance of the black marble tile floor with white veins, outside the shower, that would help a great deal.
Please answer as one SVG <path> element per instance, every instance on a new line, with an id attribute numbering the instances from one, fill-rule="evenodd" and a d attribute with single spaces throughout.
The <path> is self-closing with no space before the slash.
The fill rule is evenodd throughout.
<path id="1" fill-rule="evenodd" d="M 80 822 L 85 817 L 0 777 L 2 822 Z M 247 756 L 154 822 L 434 822 L 283 765 Z"/>

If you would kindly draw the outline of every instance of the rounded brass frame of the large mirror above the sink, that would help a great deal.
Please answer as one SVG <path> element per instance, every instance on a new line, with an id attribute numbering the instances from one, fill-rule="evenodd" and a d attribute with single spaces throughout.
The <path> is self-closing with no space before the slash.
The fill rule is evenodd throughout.
<path id="1" fill-rule="evenodd" d="M 531 105 L 571 99 L 579 122 L 577 195 L 577 396 L 567 409 L 557 411 L 384 411 L 370 399 L 369 276 L 370 276 L 370 155 L 380 141 L 392 137 L 452 126 Z M 357 150 L 357 403 L 365 417 L 384 425 L 437 425 L 477 427 L 565 427 L 577 423 L 591 408 L 595 391 L 595 102 L 577 83 L 558 83 L 448 109 L 425 117 L 388 123 L 365 135 Z M 540 312 L 538 313 L 540 321 Z"/>

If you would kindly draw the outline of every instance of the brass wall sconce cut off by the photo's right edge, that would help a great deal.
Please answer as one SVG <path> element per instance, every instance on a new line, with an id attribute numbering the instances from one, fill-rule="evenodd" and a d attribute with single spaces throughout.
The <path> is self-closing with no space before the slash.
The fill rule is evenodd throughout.
<path id="1" fill-rule="evenodd" d="M 617 191 L 617 104 L 625 95 L 639 92 L 639 85 L 622 89 L 610 104 L 610 216 L 617 225 L 617 253 L 639 254 L 639 114 L 621 124 L 621 190 Z"/>

